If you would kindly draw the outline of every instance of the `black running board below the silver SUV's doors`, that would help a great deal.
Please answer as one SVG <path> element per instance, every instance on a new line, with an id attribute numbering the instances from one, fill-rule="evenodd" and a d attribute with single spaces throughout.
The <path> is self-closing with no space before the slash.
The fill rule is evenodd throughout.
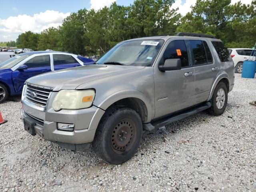
<path id="1" fill-rule="evenodd" d="M 172 122 L 184 119 L 188 116 L 191 116 L 191 115 L 196 114 L 200 111 L 206 110 L 210 107 L 211 107 L 211 103 L 206 102 L 204 104 L 200 104 L 200 105 L 198 105 L 194 108 L 191 108 L 189 110 L 185 110 L 184 112 L 180 112 L 178 114 L 168 116 L 168 117 L 162 118 L 160 120 L 153 121 L 151 123 L 143 124 L 143 129 L 148 130 L 148 131 L 152 131 L 155 128 L 160 128 L 160 127 L 165 126 L 166 124 L 170 124 Z"/>

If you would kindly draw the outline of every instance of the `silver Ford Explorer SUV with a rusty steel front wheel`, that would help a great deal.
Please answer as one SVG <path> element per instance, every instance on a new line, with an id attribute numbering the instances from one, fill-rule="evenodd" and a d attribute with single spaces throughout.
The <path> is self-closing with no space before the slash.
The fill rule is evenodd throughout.
<path id="1" fill-rule="evenodd" d="M 21 116 L 31 135 L 70 150 L 92 143 L 102 159 L 134 155 L 143 129 L 196 112 L 221 115 L 234 86 L 234 63 L 214 36 L 178 33 L 118 43 L 95 64 L 26 81 Z"/>

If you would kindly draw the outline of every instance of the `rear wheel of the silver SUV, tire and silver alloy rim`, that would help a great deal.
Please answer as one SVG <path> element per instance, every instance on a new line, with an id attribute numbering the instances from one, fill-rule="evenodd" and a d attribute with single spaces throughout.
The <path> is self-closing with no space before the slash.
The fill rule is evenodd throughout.
<path id="1" fill-rule="evenodd" d="M 228 102 L 228 89 L 224 82 L 219 82 L 210 100 L 212 106 L 208 113 L 214 116 L 222 115 Z"/>

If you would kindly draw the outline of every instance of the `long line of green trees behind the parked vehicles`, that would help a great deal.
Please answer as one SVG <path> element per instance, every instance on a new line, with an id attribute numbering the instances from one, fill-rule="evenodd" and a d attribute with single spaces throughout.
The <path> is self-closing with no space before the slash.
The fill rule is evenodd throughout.
<path id="1" fill-rule="evenodd" d="M 251 48 L 256 41 L 256 0 L 249 5 L 230 2 L 197 0 L 183 17 L 178 9 L 171 8 L 174 0 L 135 0 L 130 6 L 114 2 L 97 11 L 78 10 L 58 28 L 40 34 L 24 32 L 16 42 L 7 43 L 18 48 L 91 55 L 104 53 L 131 38 L 195 32 L 214 35 L 229 48 Z"/>

